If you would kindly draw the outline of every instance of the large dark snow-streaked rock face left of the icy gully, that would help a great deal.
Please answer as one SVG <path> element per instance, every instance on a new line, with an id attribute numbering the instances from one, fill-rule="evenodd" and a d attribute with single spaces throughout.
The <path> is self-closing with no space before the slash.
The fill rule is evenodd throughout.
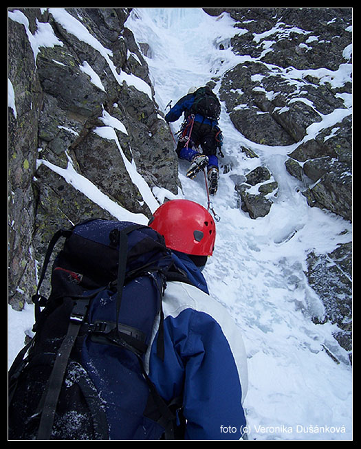
<path id="1" fill-rule="evenodd" d="M 36 261 L 50 236 L 83 219 L 112 216 L 58 169 L 71 164 L 100 193 L 146 217 L 151 211 L 129 164 L 149 188 L 177 193 L 180 184 L 148 66 L 124 28 L 130 10 L 69 8 L 61 17 L 51 8 L 11 9 L 9 80 L 16 111 L 9 108 L 9 298 L 21 308 L 23 292 L 34 293 Z M 81 35 L 72 21 L 83 27 Z M 34 50 L 28 36 L 41 31 L 52 42 Z M 97 132 L 109 118 L 118 120 L 110 137 Z M 53 165 L 39 166 L 38 160 Z"/>

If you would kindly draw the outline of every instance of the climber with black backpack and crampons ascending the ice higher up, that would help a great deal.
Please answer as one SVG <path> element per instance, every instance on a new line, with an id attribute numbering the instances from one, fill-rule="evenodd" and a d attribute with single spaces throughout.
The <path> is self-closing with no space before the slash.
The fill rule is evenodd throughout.
<path id="1" fill-rule="evenodd" d="M 208 85 L 190 87 L 165 116 L 166 122 L 175 122 L 184 113 L 184 123 L 176 152 L 180 159 L 191 162 L 186 176 L 193 179 L 207 168 L 210 195 L 218 188 L 219 166 L 217 149 L 221 153 L 222 133 L 218 127 L 221 105 Z M 201 153 L 197 147 L 201 146 Z M 222 155 L 222 154 L 221 154 Z"/>

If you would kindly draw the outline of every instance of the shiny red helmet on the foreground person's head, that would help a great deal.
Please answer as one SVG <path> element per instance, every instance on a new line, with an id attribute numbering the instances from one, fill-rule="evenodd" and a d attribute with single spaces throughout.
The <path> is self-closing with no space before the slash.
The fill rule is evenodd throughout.
<path id="1" fill-rule="evenodd" d="M 215 221 L 208 210 L 194 201 L 167 201 L 155 210 L 149 226 L 163 235 L 171 250 L 211 256 L 215 249 Z"/>

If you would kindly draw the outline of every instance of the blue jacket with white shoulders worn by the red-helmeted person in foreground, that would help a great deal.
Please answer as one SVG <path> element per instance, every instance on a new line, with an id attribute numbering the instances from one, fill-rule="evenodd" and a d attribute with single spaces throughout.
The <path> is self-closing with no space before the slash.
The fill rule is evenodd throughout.
<path id="1" fill-rule="evenodd" d="M 182 261 L 193 270 L 198 286 L 168 282 L 162 302 L 164 361 L 156 355 L 156 322 L 146 357 L 149 377 L 166 401 L 183 397 L 185 439 L 239 439 L 246 425 L 242 403 L 248 389 L 241 331 L 225 307 L 206 293 L 201 272 Z M 222 432 L 221 426 L 237 432 Z"/>

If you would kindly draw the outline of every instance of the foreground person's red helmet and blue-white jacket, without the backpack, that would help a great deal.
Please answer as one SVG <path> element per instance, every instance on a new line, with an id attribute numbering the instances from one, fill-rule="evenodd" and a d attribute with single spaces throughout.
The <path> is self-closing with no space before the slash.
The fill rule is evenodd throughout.
<path id="1" fill-rule="evenodd" d="M 216 228 L 210 213 L 186 199 L 162 204 L 149 226 L 164 236 L 187 282 L 168 281 L 164 311 L 164 360 L 151 343 L 149 377 L 166 402 L 180 398 L 182 439 L 240 439 L 248 388 L 241 331 L 208 292 L 202 267 L 212 255 Z M 237 432 L 223 433 L 222 426 Z"/>

